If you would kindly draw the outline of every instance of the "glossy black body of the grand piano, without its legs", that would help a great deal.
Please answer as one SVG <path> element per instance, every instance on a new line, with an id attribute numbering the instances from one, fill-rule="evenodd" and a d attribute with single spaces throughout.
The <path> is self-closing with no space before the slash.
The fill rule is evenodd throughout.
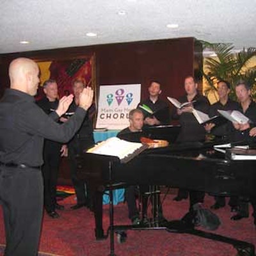
<path id="1" fill-rule="evenodd" d="M 79 177 L 95 186 L 168 185 L 216 195 L 255 196 L 254 161 L 232 161 L 212 143 L 188 143 L 145 150 L 126 164 L 116 157 L 86 154 L 79 158 Z"/>

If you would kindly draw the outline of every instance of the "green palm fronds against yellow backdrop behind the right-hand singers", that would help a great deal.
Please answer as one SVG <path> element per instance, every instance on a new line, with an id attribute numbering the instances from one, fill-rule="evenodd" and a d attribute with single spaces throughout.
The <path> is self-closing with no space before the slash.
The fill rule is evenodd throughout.
<path id="1" fill-rule="evenodd" d="M 252 86 L 252 98 L 256 99 L 256 68 L 247 68 L 248 62 L 256 56 L 256 47 L 243 49 L 239 52 L 234 52 L 232 44 L 211 44 L 202 42 L 204 49 L 209 49 L 215 52 L 216 57 L 205 58 L 205 71 L 203 77 L 207 82 L 205 95 L 210 92 L 216 96 L 216 81 L 220 79 L 227 80 L 231 85 L 230 97 L 236 99 L 234 86 L 237 81 L 243 79 Z"/>

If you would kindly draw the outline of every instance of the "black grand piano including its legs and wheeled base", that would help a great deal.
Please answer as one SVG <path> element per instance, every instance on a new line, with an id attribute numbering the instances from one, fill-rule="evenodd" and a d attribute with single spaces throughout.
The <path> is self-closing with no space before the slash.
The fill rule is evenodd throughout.
<path id="1" fill-rule="evenodd" d="M 175 129 L 177 131 L 177 128 Z M 155 139 L 154 132 L 150 132 L 151 138 Z M 149 136 L 149 134 L 147 135 Z M 145 132 L 143 136 L 145 136 Z M 140 134 L 138 134 L 138 137 L 140 137 Z M 89 153 L 84 153 L 83 156 L 79 157 L 79 177 L 86 180 L 94 195 L 93 211 L 95 214 L 96 239 L 106 237 L 102 230 L 102 193 L 105 189 L 109 189 L 111 256 L 115 255 L 113 242 L 115 230 L 141 228 L 129 225 L 125 227 L 114 225 L 111 191 L 118 188 L 118 186 L 165 185 L 174 188 L 205 191 L 212 195 L 237 195 L 247 198 L 256 196 L 254 161 L 234 161 L 225 154 L 216 152 L 212 147 L 216 144 L 216 141 L 182 143 L 179 145 L 173 143 L 174 138 L 175 136 L 172 135 L 168 147 L 147 149 L 128 163 L 120 163 L 118 157 Z M 193 225 L 187 225 L 188 223 L 183 223 L 183 225 L 182 221 L 178 222 L 179 225 L 177 225 L 177 221 L 170 221 L 163 228 L 170 232 L 189 233 L 232 244 L 237 249 L 238 255 L 255 255 L 253 244 L 197 230 Z"/>

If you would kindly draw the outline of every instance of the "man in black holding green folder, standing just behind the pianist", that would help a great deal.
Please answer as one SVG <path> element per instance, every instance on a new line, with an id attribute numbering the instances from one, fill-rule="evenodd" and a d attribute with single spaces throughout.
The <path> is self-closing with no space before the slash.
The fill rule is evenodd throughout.
<path id="1" fill-rule="evenodd" d="M 137 108 L 140 108 L 143 104 L 147 105 L 156 115 L 149 115 L 144 112 L 145 125 L 167 125 L 170 122 L 169 105 L 164 100 L 159 99 L 162 93 L 161 84 L 158 81 L 151 81 L 148 87 L 149 97 L 142 100 L 138 104 Z"/>

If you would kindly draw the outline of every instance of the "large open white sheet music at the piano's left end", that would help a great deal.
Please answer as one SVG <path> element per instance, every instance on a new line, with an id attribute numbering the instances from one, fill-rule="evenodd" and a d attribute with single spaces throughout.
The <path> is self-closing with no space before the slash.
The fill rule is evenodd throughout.
<path id="1" fill-rule="evenodd" d="M 112 137 L 88 149 L 86 153 L 116 156 L 120 159 L 121 163 L 127 163 L 147 148 L 148 145 L 143 143 L 130 142 Z"/>

